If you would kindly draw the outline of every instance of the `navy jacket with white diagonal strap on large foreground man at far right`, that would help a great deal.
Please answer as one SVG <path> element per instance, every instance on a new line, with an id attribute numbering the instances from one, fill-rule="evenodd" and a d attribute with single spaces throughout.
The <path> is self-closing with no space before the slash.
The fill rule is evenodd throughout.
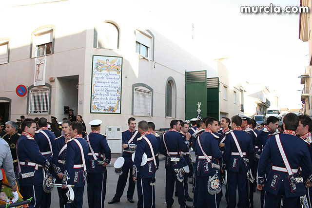
<path id="1" fill-rule="evenodd" d="M 293 131 L 292 132 L 294 135 L 285 132 L 288 131 L 285 130 L 284 133 L 278 133 L 285 155 L 293 170 L 297 170 L 299 169 L 299 167 L 302 168 L 301 175 L 303 176 L 303 180 L 305 181 L 312 173 L 312 163 L 307 143 L 305 143 L 301 138 L 295 136 L 295 133 Z M 272 161 L 272 166 L 286 168 L 275 140 L 275 134 L 270 135 L 259 159 L 259 184 L 263 184 L 263 182 L 265 181 L 264 174 L 269 159 Z M 299 176 L 299 173 L 294 173 L 294 176 Z M 286 197 L 296 197 L 306 194 L 306 188 L 304 183 L 296 184 L 297 189 L 293 192 L 291 191 L 291 186 L 288 179 L 288 172 L 271 169 L 266 178 L 267 181 L 263 189 L 274 195 L 277 194 L 281 186 L 284 187 Z"/>

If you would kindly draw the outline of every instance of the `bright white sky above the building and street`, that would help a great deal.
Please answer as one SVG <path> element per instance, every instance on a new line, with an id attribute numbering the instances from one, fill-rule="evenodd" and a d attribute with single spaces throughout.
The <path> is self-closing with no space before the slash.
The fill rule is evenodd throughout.
<path id="1" fill-rule="evenodd" d="M 299 0 L 140 2 L 136 15 L 147 27 L 204 61 L 228 57 L 230 79 L 262 82 L 277 92 L 280 108 L 301 108 L 297 77 L 309 65 L 309 51 L 299 39 L 299 14 L 240 13 L 242 5 L 299 6 Z"/>

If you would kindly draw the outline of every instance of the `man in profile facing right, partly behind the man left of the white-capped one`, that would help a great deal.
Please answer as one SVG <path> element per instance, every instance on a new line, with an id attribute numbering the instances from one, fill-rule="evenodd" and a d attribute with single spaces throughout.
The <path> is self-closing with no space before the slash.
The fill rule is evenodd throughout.
<path id="1" fill-rule="evenodd" d="M 62 131 L 64 133 L 63 136 L 60 136 L 55 139 L 54 145 L 53 145 L 53 169 L 56 174 L 56 183 L 61 184 L 63 175 L 64 175 L 64 165 L 65 165 L 65 156 L 66 156 L 66 147 L 67 147 L 67 141 L 70 139 L 69 134 L 69 124 L 71 123 L 70 120 L 64 120 L 61 124 Z M 62 202 L 61 198 L 61 187 L 58 188 L 58 194 L 59 194 L 59 208 L 65 208 L 65 205 Z"/>

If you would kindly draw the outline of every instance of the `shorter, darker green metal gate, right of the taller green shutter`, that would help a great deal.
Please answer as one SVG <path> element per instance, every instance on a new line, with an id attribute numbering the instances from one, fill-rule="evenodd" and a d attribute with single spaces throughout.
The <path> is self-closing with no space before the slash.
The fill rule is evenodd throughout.
<path id="1" fill-rule="evenodd" d="M 219 78 L 207 78 L 207 115 L 219 120 Z"/>

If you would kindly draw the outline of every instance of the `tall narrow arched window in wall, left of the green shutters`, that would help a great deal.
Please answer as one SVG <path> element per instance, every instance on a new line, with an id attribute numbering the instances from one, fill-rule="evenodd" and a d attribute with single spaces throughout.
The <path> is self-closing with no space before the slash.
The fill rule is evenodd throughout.
<path id="1" fill-rule="evenodd" d="M 169 77 L 166 82 L 166 117 L 176 117 L 176 82 L 173 77 Z"/>

